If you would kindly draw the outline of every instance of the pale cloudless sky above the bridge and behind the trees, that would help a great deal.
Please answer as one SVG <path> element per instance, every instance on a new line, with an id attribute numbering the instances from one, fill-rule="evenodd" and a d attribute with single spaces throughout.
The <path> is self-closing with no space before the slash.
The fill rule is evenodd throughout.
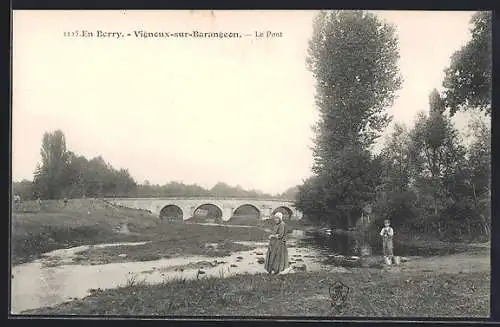
<path id="1" fill-rule="evenodd" d="M 472 12 L 374 13 L 396 25 L 400 45 L 403 84 L 388 112 L 411 126 L 470 38 Z M 318 118 L 305 66 L 314 14 L 14 11 L 13 180 L 32 179 L 44 132 L 61 129 L 69 150 L 102 155 L 140 183 L 221 181 L 272 194 L 302 183 Z M 64 36 L 75 30 L 94 36 Z M 139 30 L 248 36 L 137 38 Z M 255 37 L 267 31 L 282 36 Z M 456 120 L 462 128 L 467 115 Z"/>

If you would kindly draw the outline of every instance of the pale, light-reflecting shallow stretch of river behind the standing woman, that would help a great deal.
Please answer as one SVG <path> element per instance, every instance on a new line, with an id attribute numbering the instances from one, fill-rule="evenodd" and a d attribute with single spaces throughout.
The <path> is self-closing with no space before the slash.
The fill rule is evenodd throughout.
<path id="1" fill-rule="evenodd" d="M 267 243 L 241 242 L 254 247 L 226 257 L 189 256 L 155 261 L 120 262 L 109 264 L 75 264 L 74 257 L 89 246 L 60 249 L 46 253 L 41 259 L 12 267 L 11 312 L 50 307 L 73 299 L 83 298 L 92 289 L 125 286 L 132 281 L 149 284 L 162 283 L 174 278 L 228 277 L 235 274 L 264 273 L 262 263 Z M 144 244 L 138 242 L 133 244 Z M 109 247 L 133 244 L 100 244 Z M 318 251 L 290 241 L 291 267 L 285 273 L 304 269 L 328 269 Z M 260 259 L 259 259 L 260 258 Z M 200 270 L 203 272 L 200 275 Z"/>

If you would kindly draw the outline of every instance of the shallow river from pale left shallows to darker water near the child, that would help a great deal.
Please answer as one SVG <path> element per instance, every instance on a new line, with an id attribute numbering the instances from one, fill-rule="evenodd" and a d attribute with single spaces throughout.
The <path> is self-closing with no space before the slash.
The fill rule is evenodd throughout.
<path id="1" fill-rule="evenodd" d="M 176 278 L 224 278 L 236 274 L 265 273 L 263 261 L 267 242 L 237 242 L 252 249 L 234 252 L 225 257 L 183 256 L 97 265 L 82 264 L 74 260 L 80 252 L 90 247 L 134 246 L 144 243 L 99 244 L 59 249 L 45 253 L 38 260 L 12 267 L 11 312 L 20 314 L 25 310 L 52 307 L 86 297 L 92 290 L 117 288 L 132 282 L 158 284 Z M 350 267 L 360 257 L 372 259 L 373 262 L 382 261 L 377 256 L 372 256 L 369 246 L 349 234 L 305 234 L 303 231 L 294 230 L 289 236 L 288 253 L 290 268 L 284 273 L 304 270 L 346 272 L 348 270 L 344 267 Z M 342 263 L 339 263 L 339 257 Z"/>

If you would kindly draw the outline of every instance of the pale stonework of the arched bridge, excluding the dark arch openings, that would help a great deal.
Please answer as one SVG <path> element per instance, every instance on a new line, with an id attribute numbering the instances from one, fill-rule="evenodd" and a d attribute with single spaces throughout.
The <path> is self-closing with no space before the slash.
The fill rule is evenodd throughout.
<path id="1" fill-rule="evenodd" d="M 244 205 L 251 205 L 259 210 L 260 219 L 268 219 L 273 212 L 284 207 L 292 213 L 291 220 L 302 219 L 302 212 L 293 206 L 291 201 L 261 200 L 241 198 L 108 198 L 106 201 L 127 208 L 149 210 L 160 217 L 160 212 L 166 206 L 176 206 L 182 210 L 183 220 L 194 216 L 194 212 L 205 204 L 215 205 L 222 211 L 222 220 L 228 221 L 236 209 Z"/>

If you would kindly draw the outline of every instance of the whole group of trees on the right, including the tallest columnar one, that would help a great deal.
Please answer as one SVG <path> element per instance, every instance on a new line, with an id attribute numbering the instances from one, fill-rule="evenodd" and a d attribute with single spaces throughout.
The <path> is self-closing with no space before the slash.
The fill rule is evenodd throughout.
<path id="1" fill-rule="evenodd" d="M 364 11 L 319 13 L 307 66 L 316 79 L 313 175 L 296 206 L 318 224 L 356 225 L 372 208 L 371 232 L 390 219 L 402 234 L 439 239 L 490 236 L 491 130 L 471 122 L 465 144 L 459 110 L 491 115 L 491 15 L 471 20 L 471 40 L 451 57 L 443 92 L 429 94 L 414 126 L 396 123 L 380 153 L 373 145 L 392 117 L 402 79 L 393 25 Z"/>

